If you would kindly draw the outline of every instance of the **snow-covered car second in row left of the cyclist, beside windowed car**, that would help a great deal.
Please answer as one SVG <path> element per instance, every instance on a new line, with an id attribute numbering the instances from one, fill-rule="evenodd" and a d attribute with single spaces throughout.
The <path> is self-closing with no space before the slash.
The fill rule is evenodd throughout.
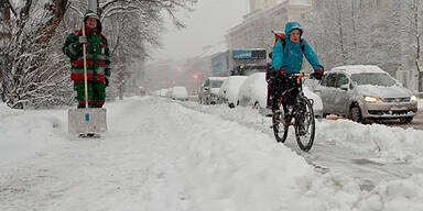
<path id="1" fill-rule="evenodd" d="M 239 88 L 247 78 L 247 76 L 228 77 L 220 87 L 218 101 L 228 103 L 229 108 L 235 108 L 238 101 Z"/>

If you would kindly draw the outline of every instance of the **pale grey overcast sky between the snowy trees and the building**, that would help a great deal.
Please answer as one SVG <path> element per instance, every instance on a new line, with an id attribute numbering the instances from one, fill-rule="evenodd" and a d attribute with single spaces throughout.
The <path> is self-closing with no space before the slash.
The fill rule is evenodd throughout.
<path id="1" fill-rule="evenodd" d="M 167 24 L 167 33 L 162 40 L 164 48 L 154 56 L 158 59 L 193 57 L 200 54 L 204 46 L 225 41 L 226 32 L 242 22 L 242 16 L 249 9 L 248 2 L 249 0 L 198 0 L 194 12 L 182 14 L 186 29 L 177 31 Z"/>

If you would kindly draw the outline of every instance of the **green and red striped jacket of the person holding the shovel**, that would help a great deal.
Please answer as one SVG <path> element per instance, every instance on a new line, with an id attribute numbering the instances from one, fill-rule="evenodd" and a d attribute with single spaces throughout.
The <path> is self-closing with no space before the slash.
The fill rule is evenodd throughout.
<path id="1" fill-rule="evenodd" d="M 83 45 L 79 36 L 83 31 L 75 31 L 66 38 L 63 53 L 70 58 L 70 80 L 84 80 Z M 88 80 L 104 81 L 110 77 L 110 52 L 107 38 L 98 30 L 86 29 L 87 44 L 87 77 Z"/>

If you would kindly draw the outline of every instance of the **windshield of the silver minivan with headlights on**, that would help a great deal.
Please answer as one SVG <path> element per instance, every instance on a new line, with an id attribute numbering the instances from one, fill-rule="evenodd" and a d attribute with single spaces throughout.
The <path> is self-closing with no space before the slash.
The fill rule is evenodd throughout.
<path id="1" fill-rule="evenodd" d="M 392 87 L 397 82 L 388 74 L 352 74 L 351 80 L 357 82 L 357 85 L 373 85 L 382 87 Z"/>

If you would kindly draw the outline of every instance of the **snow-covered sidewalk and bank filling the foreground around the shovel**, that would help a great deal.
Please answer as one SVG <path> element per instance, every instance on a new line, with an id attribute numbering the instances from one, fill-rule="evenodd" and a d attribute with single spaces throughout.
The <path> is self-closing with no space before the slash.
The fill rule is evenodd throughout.
<path id="1" fill-rule="evenodd" d="M 41 145 L 0 166 L 0 210 L 423 208 L 422 176 L 361 191 L 348 176 L 316 173 L 261 131 L 162 99 L 108 104 L 110 131 L 100 140 L 67 135 L 62 110 L 0 111 L 0 142 L 19 120 L 13 138 Z"/>

